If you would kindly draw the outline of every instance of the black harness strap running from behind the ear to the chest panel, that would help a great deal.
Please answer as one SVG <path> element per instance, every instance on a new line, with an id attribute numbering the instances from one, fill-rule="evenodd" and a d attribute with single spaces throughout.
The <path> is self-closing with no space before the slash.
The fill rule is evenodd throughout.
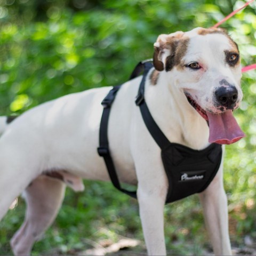
<path id="1" fill-rule="evenodd" d="M 135 103 L 137 106 L 140 107 L 143 121 L 145 122 L 149 133 L 154 138 L 157 145 L 161 149 L 164 149 L 170 145 L 170 142 L 165 137 L 164 133 L 159 128 L 159 126 L 156 124 L 154 118 L 151 116 L 148 106 L 146 104 L 145 98 L 144 98 L 146 77 L 147 77 L 148 71 L 153 67 L 153 63 L 145 62 L 145 63 L 143 63 L 143 66 L 144 66 L 144 74 L 143 74 L 143 78 L 140 83 L 139 92 L 136 97 Z"/>

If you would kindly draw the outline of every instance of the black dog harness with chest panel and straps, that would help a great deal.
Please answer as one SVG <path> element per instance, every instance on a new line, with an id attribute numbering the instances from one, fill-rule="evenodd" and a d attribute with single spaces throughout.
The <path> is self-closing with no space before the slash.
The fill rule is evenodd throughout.
<path id="1" fill-rule="evenodd" d="M 130 79 L 139 76 L 141 71 L 143 71 L 135 103 L 140 108 L 148 131 L 161 148 L 164 170 L 169 181 L 166 203 L 170 203 L 195 193 L 200 193 L 207 188 L 219 170 L 222 149 L 221 145 L 212 143 L 203 150 L 194 150 L 178 143 L 171 143 L 165 137 L 151 116 L 144 98 L 146 77 L 152 67 L 153 64 L 149 61 L 140 62 L 135 67 Z M 104 158 L 113 185 L 123 193 L 137 198 L 136 191 L 129 191 L 121 187 L 108 146 L 107 129 L 110 108 L 120 87 L 121 85 L 113 87 L 107 97 L 101 102 L 103 113 L 100 123 L 100 146 L 98 153 Z"/>

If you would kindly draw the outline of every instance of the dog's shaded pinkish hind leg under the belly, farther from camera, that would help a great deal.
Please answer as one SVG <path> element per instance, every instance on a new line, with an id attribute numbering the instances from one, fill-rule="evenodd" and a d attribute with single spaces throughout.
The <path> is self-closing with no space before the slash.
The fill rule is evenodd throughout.
<path id="1" fill-rule="evenodd" d="M 25 221 L 11 239 L 15 255 L 29 255 L 35 241 L 54 221 L 63 201 L 64 182 L 40 175 L 25 190 Z"/>

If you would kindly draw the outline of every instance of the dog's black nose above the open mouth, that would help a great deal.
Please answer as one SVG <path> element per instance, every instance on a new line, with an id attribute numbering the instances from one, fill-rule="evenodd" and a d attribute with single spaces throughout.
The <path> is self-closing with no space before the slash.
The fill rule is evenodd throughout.
<path id="1" fill-rule="evenodd" d="M 215 91 L 218 102 L 229 109 L 234 107 L 238 98 L 238 92 L 235 86 L 221 86 Z"/>

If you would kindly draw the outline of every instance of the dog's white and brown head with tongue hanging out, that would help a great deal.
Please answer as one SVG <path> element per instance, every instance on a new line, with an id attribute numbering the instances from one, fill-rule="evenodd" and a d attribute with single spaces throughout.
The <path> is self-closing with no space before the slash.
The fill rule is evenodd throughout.
<path id="1" fill-rule="evenodd" d="M 232 113 L 243 97 L 239 51 L 225 31 L 195 28 L 160 35 L 154 49 L 155 69 L 166 72 L 170 86 L 185 93 L 209 122 L 210 142 L 230 144 L 244 137 Z"/>

